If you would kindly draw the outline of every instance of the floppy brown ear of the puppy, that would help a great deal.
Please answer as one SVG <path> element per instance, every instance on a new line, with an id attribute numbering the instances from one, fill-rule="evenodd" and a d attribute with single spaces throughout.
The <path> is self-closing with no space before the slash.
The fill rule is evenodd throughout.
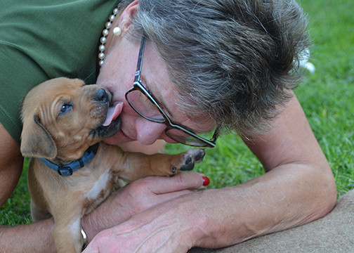
<path id="1" fill-rule="evenodd" d="M 41 124 L 39 117 L 27 117 L 23 120 L 21 134 L 21 153 L 23 156 L 54 158 L 57 155 L 57 148 Z"/>

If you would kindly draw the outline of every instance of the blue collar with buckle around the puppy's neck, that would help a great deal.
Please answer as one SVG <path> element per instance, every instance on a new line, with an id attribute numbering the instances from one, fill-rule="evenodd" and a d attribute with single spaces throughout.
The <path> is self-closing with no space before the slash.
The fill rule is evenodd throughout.
<path id="1" fill-rule="evenodd" d="M 66 164 L 64 166 L 58 166 L 57 164 L 54 164 L 53 162 L 41 157 L 39 157 L 39 160 L 44 162 L 44 164 L 46 164 L 46 166 L 48 166 L 49 168 L 57 171 L 60 176 L 71 176 L 74 171 L 76 171 L 77 169 L 81 169 L 86 164 L 91 162 L 93 158 L 95 158 L 98 150 L 98 145 L 98 143 L 92 145 L 85 151 L 84 155 L 80 159 L 74 160 L 74 162 L 71 162 L 70 164 Z"/>

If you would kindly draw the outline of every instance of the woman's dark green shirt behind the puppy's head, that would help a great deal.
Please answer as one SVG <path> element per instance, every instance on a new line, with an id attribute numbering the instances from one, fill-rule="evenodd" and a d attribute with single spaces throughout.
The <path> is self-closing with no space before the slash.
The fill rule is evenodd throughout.
<path id="1" fill-rule="evenodd" d="M 2 0 L 0 122 L 20 143 L 20 108 L 55 77 L 96 82 L 99 39 L 117 0 Z"/>

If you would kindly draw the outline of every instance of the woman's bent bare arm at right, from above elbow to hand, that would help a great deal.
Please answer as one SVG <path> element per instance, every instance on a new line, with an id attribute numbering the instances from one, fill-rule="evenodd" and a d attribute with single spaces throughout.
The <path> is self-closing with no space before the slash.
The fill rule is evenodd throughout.
<path id="1" fill-rule="evenodd" d="M 295 97 L 270 132 L 246 143 L 267 173 L 239 186 L 203 190 L 147 209 L 99 233 L 88 252 L 225 247 L 299 226 L 332 210 L 332 171 Z"/>

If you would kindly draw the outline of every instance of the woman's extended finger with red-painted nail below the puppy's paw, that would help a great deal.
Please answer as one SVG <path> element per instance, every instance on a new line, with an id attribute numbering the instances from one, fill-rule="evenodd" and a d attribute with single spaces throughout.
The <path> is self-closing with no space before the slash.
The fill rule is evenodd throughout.
<path id="1" fill-rule="evenodd" d="M 181 190 L 202 189 L 209 184 L 204 174 L 197 172 L 182 172 L 173 177 L 147 177 L 147 187 L 155 194 L 172 193 Z"/>

